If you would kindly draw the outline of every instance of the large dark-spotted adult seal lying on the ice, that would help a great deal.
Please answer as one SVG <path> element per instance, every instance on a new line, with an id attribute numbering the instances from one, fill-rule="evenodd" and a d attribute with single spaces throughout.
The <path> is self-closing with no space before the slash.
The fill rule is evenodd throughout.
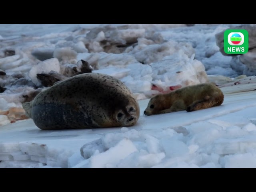
<path id="1" fill-rule="evenodd" d="M 138 102 L 120 80 L 99 73 L 71 77 L 23 104 L 42 130 L 132 126 Z"/>

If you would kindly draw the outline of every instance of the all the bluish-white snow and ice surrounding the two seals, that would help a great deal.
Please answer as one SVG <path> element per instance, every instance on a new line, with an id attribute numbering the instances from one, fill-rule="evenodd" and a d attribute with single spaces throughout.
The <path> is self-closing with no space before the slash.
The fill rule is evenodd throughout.
<path id="1" fill-rule="evenodd" d="M 120 128 L 40 130 L 0 115 L 0 168 L 256 167 L 256 77 L 245 69 L 254 56 L 242 63 L 216 46 L 215 34 L 232 26 L 0 24 L 0 112 L 43 88 L 36 74 L 65 79 L 81 59 L 124 82 L 140 105 L 138 122 Z M 209 81 L 224 92 L 221 106 L 143 114 L 152 95 Z"/>

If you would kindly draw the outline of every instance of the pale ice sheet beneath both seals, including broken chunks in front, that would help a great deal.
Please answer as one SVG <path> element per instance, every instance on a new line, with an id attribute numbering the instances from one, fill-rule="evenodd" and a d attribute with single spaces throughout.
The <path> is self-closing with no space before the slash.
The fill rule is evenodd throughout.
<path id="1" fill-rule="evenodd" d="M 140 100 L 140 119 L 129 128 L 43 131 L 30 119 L 8 124 L 0 130 L 0 167 L 256 167 L 255 86 L 224 87 L 221 106 L 190 113 L 144 116 L 148 100 Z"/>

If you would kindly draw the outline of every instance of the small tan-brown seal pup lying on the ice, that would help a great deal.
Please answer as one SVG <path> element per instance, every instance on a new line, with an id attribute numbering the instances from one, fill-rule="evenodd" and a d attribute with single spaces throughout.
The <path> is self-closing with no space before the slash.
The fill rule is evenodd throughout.
<path id="1" fill-rule="evenodd" d="M 224 95 L 213 83 L 203 83 L 177 89 L 168 94 L 154 96 L 148 102 L 145 115 L 164 114 L 186 110 L 187 112 L 219 106 Z"/>

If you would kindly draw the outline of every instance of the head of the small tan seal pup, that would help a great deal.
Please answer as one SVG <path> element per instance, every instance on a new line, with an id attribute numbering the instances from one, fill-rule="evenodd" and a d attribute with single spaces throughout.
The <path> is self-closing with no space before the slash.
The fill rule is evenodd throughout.
<path id="1" fill-rule="evenodd" d="M 164 103 L 165 102 L 164 102 L 163 94 L 159 94 L 152 97 L 148 102 L 148 106 L 145 109 L 144 114 L 145 115 L 159 114 L 160 111 L 165 109 Z"/>

